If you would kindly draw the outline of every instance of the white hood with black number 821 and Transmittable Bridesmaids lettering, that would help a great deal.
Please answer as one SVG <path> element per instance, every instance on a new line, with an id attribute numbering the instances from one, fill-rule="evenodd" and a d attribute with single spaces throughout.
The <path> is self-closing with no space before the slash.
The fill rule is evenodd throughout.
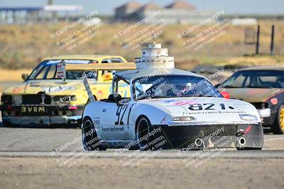
<path id="1" fill-rule="evenodd" d="M 191 125 L 212 124 L 258 124 L 261 122 L 256 108 L 244 101 L 226 98 L 160 98 L 143 100 L 156 108 L 163 108 L 168 113 L 166 124 L 173 117 L 192 116 L 195 120 Z M 243 120 L 241 115 L 253 115 L 254 120 Z M 167 117 L 167 116 L 166 116 Z"/>

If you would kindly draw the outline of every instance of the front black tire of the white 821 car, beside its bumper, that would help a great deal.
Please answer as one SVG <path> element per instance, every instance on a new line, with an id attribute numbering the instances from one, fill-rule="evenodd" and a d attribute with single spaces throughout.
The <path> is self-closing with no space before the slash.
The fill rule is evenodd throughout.
<path id="1" fill-rule="evenodd" d="M 141 116 L 136 121 L 136 139 L 141 139 L 139 142 L 139 149 L 140 150 L 148 150 L 148 142 L 150 141 L 150 137 L 145 137 L 150 130 L 151 122 L 146 116 Z"/>

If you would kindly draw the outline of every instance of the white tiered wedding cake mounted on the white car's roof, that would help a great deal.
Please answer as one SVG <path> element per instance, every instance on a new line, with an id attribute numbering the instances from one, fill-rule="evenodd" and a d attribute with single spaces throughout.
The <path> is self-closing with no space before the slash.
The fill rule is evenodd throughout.
<path id="1" fill-rule="evenodd" d="M 174 57 L 168 57 L 168 49 L 162 48 L 160 43 L 148 44 L 141 50 L 142 56 L 135 58 L 137 69 L 144 68 L 175 68 Z"/>

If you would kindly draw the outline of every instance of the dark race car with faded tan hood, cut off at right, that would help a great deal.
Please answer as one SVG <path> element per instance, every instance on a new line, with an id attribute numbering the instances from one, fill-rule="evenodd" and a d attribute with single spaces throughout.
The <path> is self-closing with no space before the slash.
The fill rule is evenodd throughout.
<path id="1" fill-rule="evenodd" d="M 284 67 L 240 69 L 219 84 L 230 98 L 251 103 L 258 110 L 263 127 L 284 133 Z"/>

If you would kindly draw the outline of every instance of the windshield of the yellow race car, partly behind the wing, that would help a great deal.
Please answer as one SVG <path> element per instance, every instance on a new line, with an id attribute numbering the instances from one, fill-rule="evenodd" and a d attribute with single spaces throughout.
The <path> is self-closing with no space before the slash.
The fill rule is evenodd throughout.
<path id="1" fill-rule="evenodd" d="M 43 61 L 38 64 L 35 69 L 33 69 L 30 76 L 28 76 L 28 80 L 35 80 L 35 79 L 60 79 L 58 78 L 56 66 L 59 62 L 65 61 L 70 64 L 89 64 L 94 61 L 90 60 L 47 60 Z M 89 79 L 97 79 L 97 71 L 86 71 L 86 76 Z M 66 79 L 80 79 L 81 71 L 66 71 Z"/>

